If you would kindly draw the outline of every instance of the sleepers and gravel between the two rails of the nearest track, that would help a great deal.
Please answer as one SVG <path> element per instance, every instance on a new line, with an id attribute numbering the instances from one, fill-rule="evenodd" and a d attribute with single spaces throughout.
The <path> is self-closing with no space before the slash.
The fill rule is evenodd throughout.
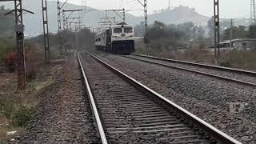
<path id="1" fill-rule="evenodd" d="M 134 86 L 130 86 L 129 83 L 125 82 L 122 78 L 119 78 L 116 74 L 111 72 L 110 70 L 106 69 L 106 67 L 102 66 L 96 60 L 93 58 L 90 58 L 90 56 L 84 54 L 82 55 L 82 62 L 83 66 L 85 67 L 87 77 L 90 81 L 90 86 L 93 90 L 95 102 L 98 103 L 98 111 L 102 118 L 103 126 L 106 130 L 106 137 L 109 140 L 109 143 L 165 143 L 166 140 L 161 140 L 163 138 L 170 138 L 170 142 L 179 142 L 178 140 L 181 140 L 182 138 L 173 138 L 174 136 L 171 136 L 170 131 L 162 131 L 156 134 L 150 134 L 150 133 L 142 133 L 138 132 L 135 133 L 135 131 L 145 131 L 145 130 L 157 130 L 157 129 L 165 129 L 165 128 L 145 128 L 145 126 L 142 126 L 143 124 L 150 124 L 148 122 L 144 122 L 144 120 L 138 120 L 138 115 L 134 114 L 140 112 L 145 113 L 144 110 L 146 110 L 143 107 L 132 106 L 126 106 L 127 102 L 130 104 L 134 101 L 140 102 L 140 105 L 143 105 L 143 103 L 146 101 L 146 103 L 153 102 L 148 95 L 143 94 L 141 91 L 134 88 Z M 139 100 L 142 98 L 142 100 Z M 136 100 L 137 99 L 137 100 Z M 153 99 L 153 98 L 152 98 Z M 150 110 L 161 110 L 162 113 L 165 113 L 165 116 L 174 116 L 174 114 L 171 114 L 167 112 L 165 109 L 163 109 L 161 106 L 158 106 L 156 103 L 152 103 L 150 105 L 153 106 L 153 109 Z M 158 108 L 154 108 L 154 107 Z M 137 117 L 136 117 L 137 115 Z M 149 114 L 150 115 L 150 114 Z M 165 117 L 164 116 L 164 117 Z M 143 119 L 143 117 L 142 117 Z M 158 120 L 163 120 L 165 118 L 159 118 Z M 186 126 L 186 124 L 182 121 L 180 121 L 179 118 L 176 119 L 179 124 Z M 172 118 L 170 118 L 169 121 L 174 121 Z M 167 122 L 167 121 L 166 121 Z M 154 123 L 154 122 L 152 122 Z M 142 124 L 142 125 L 141 125 Z M 136 126 L 134 126 L 136 125 Z M 138 126 L 140 125 L 140 126 Z M 154 126 L 158 126 L 155 124 Z M 159 125 L 162 126 L 162 125 Z M 144 127 L 144 128 L 142 128 Z M 187 126 L 188 128 L 190 126 Z M 136 128 L 136 130 L 134 130 Z M 190 129 L 190 134 L 197 134 L 196 130 Z M 120 131 L 123 131 L 119 134 Z M 172 132 L 174 132 L 173 130 Z M 180 130 L 179 132 L 181 132 Z M 118 133 L 117 133 L 118 132 Z M 186 135 L 186 136 L 187 136 Z M 203 138 L 202 136 L 199 136 L 201 143 L 210 143 L 210 140 L 207 138 Z M 180 135 L 181 137 L 185 136 Z M 202 138 L 200 138 L 202 137 Z M 186 138 L 183 138 L 182 140 L 185 141 Z M 197 138 L 195 138 L 197 139 Z M 189 140 L 189 139 L 188 139 Z M 166 142 L 169 143 L 169 142 Z M 190 143 L 197 143 L 197 142 L 190 142 Z"/>

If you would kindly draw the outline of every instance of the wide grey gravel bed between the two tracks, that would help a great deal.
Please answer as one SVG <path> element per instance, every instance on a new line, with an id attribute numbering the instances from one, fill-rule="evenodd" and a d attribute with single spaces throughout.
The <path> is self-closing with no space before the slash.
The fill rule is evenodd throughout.
<path id="1" fill-rule="evenodd" d="M 118 55 L 98 57 L 243 143 L 256 143 L 256 90 L 201 74 L 174 70 Z M 230 114 L 229 102 L 246 102 Z"/>

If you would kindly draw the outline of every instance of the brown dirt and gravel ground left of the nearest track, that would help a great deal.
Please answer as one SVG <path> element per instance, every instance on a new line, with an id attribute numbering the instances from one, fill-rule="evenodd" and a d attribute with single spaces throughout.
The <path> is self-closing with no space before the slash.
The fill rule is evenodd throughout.
<path id="1" fill-rule="evenodd" d="M 18 102 L 34 106 L 36 113 L 26 126 L 6 126 L 10 120 L 2 117 L 0 130 L 1 141 L 8 143 L 98 143 L 90 103 L 86 97 L 78 62 L 74 53 L 66 58 L 50 62 L 50 66 L 39 69 L 39 74 L 27 85 L 25 92 L 13 96 Z M 0 77 L 5 90 L 15 88 L 11 75 Z M 11 85 L 11 89 L 7 86 Z M 1 91 L 4 90 L 1 87 Z M 8 100 L 8 98 L 6 98 Z M 6 101 L 7 101 L 6 100 Z M 11 127 L 11 129 L 9 129 Z M 17 130 L 18 133 L 7 136 L 6 132 Z"/>

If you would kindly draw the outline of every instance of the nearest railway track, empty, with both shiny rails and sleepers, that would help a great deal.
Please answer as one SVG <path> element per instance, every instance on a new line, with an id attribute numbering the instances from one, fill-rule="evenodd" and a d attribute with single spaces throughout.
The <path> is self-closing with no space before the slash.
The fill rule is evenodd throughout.
<path id="1" fill-rule="evenodd" d="M 241 143 L 91 54 L 78 62 L 102 143 Z"/>

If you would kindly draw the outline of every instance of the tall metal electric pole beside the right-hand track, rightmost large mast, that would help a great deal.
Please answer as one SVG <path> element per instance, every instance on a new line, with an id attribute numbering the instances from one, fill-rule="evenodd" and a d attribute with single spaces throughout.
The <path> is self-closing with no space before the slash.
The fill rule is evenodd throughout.
<path id="1" fill-rule="evenodd" d="M 220 42 L 220 25 L 219 25 L 219 2 L 214 0 L 214 57 L 215 63 L 218 64 L 220 56 L 219 42 Z"/>

